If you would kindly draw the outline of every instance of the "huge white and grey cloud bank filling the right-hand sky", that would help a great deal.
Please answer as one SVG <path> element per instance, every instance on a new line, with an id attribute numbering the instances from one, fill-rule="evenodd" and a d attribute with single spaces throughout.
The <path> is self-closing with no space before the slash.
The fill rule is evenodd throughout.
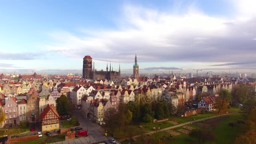
<path id="1" fill-rule="evenodd" d="M 250 3 L 250 10 L 240 1 L 230 3 L 235 16 L 229 18 L 208 15 L 195 6 L 168 13 L 125 5 L 117 29 L 84 29 L 80 35 L 51 32 L 53 44 L 44 47 L 75 59 L 91 55 L 98 61 L 132 62 L 135 53 L 139 62 L 250 61 L 256 53 L 251 40 L 256 35 L 254 8 Z"/>

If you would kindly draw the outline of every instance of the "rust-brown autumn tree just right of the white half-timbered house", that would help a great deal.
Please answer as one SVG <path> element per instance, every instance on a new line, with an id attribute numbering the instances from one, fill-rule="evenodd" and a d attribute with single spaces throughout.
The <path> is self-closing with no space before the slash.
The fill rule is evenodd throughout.
<path id="1" fill-rule="evenodd" d="M 227 108 L 231 101 L 231 95 L 227 90 L 221 90 L 219 96 L 216 97 L 216 103 L 214 104 L 215 109 L 219 109 L 218 113 L 222 112 Z"/>

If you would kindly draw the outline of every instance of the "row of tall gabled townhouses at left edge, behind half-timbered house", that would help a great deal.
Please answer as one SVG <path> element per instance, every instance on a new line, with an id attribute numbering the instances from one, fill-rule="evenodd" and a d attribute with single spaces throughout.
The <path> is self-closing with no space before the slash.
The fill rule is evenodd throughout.
<path id="1" fill-rule="evenodd" d="M 56 110 L 56 101 L 53 96 L 37 96 L 35 93 L 28 96 L 5 97 L 0 106 L 5 113 L 2 127 L 19 125 L 20 122 L 40 122 L 40 114 L 50 105 Z"/>

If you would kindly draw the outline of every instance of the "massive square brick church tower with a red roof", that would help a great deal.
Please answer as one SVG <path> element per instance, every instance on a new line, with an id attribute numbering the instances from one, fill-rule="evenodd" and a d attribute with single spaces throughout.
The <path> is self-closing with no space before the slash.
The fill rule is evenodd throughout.
<path id="1" fill-rule="evenodd" d="M 83 58 L 83 79 L 92 79 L 92 58 L 85 56 Z"/>

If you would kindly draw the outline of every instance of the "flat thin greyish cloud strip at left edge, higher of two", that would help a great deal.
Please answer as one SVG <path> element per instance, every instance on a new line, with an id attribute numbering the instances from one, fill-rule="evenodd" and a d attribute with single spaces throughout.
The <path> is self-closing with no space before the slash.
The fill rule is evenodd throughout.
<path id="1" fill-rule="evenodd" d="M 0 53 L 0 60 L 33 60 L 41 59 L 45 55 L 44 52 L 32 53 Z"/>

